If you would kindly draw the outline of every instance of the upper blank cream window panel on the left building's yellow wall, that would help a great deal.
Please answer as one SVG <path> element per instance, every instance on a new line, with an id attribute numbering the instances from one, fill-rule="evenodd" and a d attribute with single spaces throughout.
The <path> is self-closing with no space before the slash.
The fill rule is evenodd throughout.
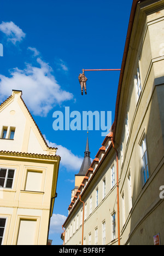
<path id="1" fill-rule="evenodd" d="M 26 191 L 37 191 L 42 190 L 42 172 L 27 171 L 26 178 Z"/>

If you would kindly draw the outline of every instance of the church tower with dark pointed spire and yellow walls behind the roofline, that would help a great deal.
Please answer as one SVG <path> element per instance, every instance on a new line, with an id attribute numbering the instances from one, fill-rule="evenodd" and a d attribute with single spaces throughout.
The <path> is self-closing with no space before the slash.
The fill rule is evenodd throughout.
<path id="1" fill-rule="evenodd" d="M 71 196 L 71 201 L 76 194 L 78 188 L 80 187 L 81 182 L 83 181 L 87 170 L 91 166 L 91 159 L 90 159 L 90 150 L 89 150 L 89 139 L 88 139 L 88 132 L 87 132 L 87 140 L 86 140 L 86 147 L 85 147 L 85 152 L 84 152 L 84 160 L 82 162 L 80 171 L 78 174 L 75 174 L 75 187 L 72 190 L 72 196 Z"/>

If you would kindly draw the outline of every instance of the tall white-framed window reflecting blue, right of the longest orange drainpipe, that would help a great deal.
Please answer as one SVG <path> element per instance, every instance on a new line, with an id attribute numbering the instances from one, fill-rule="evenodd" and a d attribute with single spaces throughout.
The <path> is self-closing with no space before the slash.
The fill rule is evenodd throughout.
<path id="1" fill-rule="evenodd" d="M 146 144 L 145 137 L 143 137 L 142 142 L 140 143 L 140 152 L 141 152 L 141 159 L 142 159 L 142 179 L 143 179 L 143 185 L 144 185 L 149 178 L 147 144 Z"/>

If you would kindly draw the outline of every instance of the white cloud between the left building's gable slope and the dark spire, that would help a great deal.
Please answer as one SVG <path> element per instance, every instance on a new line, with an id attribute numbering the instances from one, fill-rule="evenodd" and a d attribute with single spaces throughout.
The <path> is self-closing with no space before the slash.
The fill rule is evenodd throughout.
<path id="1" fill-rule="evenodd" d="M 44 135 L 45 137 L 45 135 Z M 45 138 L 46 139 L 46 138 Z M 56 143 L 49 142 L 46 139 L 46 142 L 48 143 L 49 147 L 55 147 L 58 148 L 57 155 L 61 156 L 61 162 L 60 164 L 64 166 L 67 171 L 79 171 L 81 164 L 83 162 L 83 158 L 74 155 L 71 150 L 61 146 L 57 145 Z"/>

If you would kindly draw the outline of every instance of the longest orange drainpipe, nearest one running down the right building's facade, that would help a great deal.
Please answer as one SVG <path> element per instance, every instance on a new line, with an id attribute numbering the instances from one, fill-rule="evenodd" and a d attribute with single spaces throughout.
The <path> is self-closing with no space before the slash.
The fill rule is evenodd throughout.
<path id="1" fill-rule="evenodd" d="M 120 203 L 119 203 L 119 164 L 118 150 L 114 147 L 113 138 L 111 137 L 113 148 L 116 152 L 116 176 L 117 176 L 117 201 L 118 201 L 118 245 L 120 245 Z"/>

